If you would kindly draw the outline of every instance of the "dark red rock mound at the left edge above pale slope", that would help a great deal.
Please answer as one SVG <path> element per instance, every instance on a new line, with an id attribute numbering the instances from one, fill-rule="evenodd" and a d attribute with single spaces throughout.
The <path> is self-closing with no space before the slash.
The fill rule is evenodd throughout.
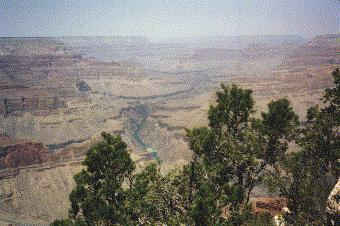
<path id="1" fill-rule="evenodd" d="M 0 148 L 0 169 L 40 164 L 48 160 L 48 150 L 41 143 L 22 143 Z"/>

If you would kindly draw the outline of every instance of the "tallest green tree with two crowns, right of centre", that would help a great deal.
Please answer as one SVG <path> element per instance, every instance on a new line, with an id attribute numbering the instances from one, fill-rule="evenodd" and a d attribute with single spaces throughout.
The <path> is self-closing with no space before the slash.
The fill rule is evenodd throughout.
<path id="1" fill-rule="evenodd" d="M 217 104 L 209 109 L 209 127 L 188 130 L 194 156 L 184 173 L 194 225 L 249 221 L 251 192 L 262 182 L 266 167 L 285 154 L 298 124 L 286 99 L 271 102 L 262 119 L 255 119 L 251 90 L 221 88 Z M 223 210 L 229 217 L 221 218 Z"/>

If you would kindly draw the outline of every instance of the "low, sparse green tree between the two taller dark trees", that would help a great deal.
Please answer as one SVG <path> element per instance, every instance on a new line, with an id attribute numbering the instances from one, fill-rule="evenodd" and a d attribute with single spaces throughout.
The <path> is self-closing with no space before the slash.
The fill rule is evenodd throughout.
<path id="1" fill-rule="evenodd" d="M 129 190 L 130 212 L 139 225 L 180 225 L 186 216 L 179 194 L 183 177 L 178 172 L 162 175 L 157 164 L 150 164 L 134 177 Z"/>

